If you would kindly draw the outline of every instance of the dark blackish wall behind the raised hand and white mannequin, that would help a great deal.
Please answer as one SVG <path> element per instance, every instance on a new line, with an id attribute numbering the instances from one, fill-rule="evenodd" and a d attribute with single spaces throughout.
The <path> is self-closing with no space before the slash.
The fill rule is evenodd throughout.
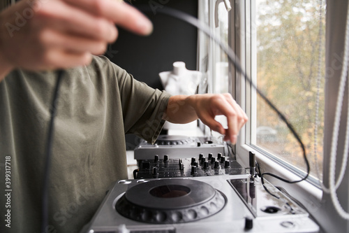
<path id="1" fill-rule="evenodd" d="M 172 63 L 186 62 L 186 68 L 196 69 L 197 29 L 168 15 L 161 8 L 176 8 L 198 16 L 197 0 L 138 0 L 131 5 L 143 6 L 154 24 L 150 36 L 137 36 L 119 28 L 119 38 L 106 55 L 112 62 L 149 86 L 163 89 L 158 73 L 172 70 Z"/>

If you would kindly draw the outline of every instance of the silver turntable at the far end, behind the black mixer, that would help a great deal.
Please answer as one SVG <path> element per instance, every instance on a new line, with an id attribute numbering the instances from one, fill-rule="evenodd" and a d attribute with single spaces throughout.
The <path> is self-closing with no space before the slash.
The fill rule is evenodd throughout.
<path id="1" fill-rule="evenodd" d="M 141 141 L 135 148 L 134 158 L 135 160 L 149 160 L 154 155 L 158 155 L 162 159 L 167 154 L 171 154 L 172 158 L 188 158 L 200 153 L 224 154 L 223 141 L 211 136 L 160 135 L 154 145 L 144 140 Z"/>

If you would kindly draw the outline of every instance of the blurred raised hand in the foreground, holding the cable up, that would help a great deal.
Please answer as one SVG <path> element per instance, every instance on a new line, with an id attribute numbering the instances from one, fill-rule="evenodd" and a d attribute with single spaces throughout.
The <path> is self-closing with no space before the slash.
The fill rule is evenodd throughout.
<path id="1" fill-rule="evenodd" d="M 135 8 L 114 0 L 22 0 L 0 13 L 0 80 L 15 68 L 66 69 L 89 64 L 117 39 L 117 24 L 152 31 Z"/>

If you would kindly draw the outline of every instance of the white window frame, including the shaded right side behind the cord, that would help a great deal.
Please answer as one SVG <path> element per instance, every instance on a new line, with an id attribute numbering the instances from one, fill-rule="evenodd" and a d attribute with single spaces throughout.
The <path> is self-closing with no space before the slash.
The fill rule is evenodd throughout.
<path id="1" fill-rule="evenodd" d="M 237 57 L 242 61 L 242 68 L 246 70 L 246 73 L 252 78 L 255 78 L 255 70 L 253 66 L 251 66 L 250 62 L 255 62 L 256 56 L 255 54 L 252 54 L 251 57 L 248 58 L 248 52 L 251 53 L 251 50 L 253 48 L 249 47 L 248 43 L 253 41 L 252 44 L 255 44 L 255 38 L 248 38 L 244 31 L 246 31 L 246 28 L 250 28 L 251 30 L 251 21 L 253 22 L 253 16 L 254 15 L 246 15 L 246 8 L 252 8 L 254 6 L 253 0 L 231 0 L 232 6 L 234 10 L 232 10 L 232 16 L 231 16 L 231 25 L 234 25 L 232 29 L 230 30 L 230 33 L 232 34 L 232 38 L 234 38 L 231 41 L 230 46 L 235 50 Z M 331 41 L 326 43 L 326 50 L 329 50 L 329 48 L 336 47 L 336 52 L 339 54 L 339 51 L 343 51 L 343 47 L 341 45 L 338 45 L 341 41 L 341 38 L 339 38 L 339 34 L 342 33 L 341 36 L 344 34 L 344 29 L 346 26 L 346 20 L 343 20 L 343 11 L 346 12 L 346 4 L 348 2 L 346 1 L 339 1 L 337 3 L 334 3 L 333 1 L 327 1 L 327 17 L 326 17 L 326 27 L 327 29 L 332 29 L 332 31 L 327 31 L 326 34 L 326 40 Z M 330 6 L 329 6 L 330 5 Z M 329 10 L 330 8 L 330 10 Z M 341 10 L 343 9 L 344 10 Z M 342 11 L 342 15 L 338 16 L 338 11 Z M 251 17 L 250 17 L 251 16 Z M 246 20 L 247 18 L 247 20 Z M 340 20 L 340 18 L 342 20 Z M 251 20 L 248 20 L 251 19 Z M 336 27 L 332 27 L 333 24 L 336 24 Z M 338 27 L 338 24 L 341 24 L 340 27 Z M 253 32 L 253 31 L 252 31 Z M 250 40 L 250 41 L 248 41 Z M 250 43 L 251 44 L 251 43 Z M 326 52 L 326 59 L 327 59 L 327 66 L 330 66 L 331 60 L 334 60 L 334 52 L 327 51 Z M 338 55 L 337 55 L 338 57 Z M 341 61 L 337 61 L 338 62 Z M 328 68 L 328 67 L 327 67 Z M 244 77 L 242 77 L 239 73 L 237 73 L 234 69 L 234 67 L 231 67 L 231 73 L 234 73 L 235 76 L 232 76 L 232 78 L 235 78 L 235 87 L 233 87 L 233 91 L 235 92 L 235 98 L 242 106 L 244 111 L 248 114 L 250 118 L 250 122 L 246 124 L 246 126 L 243 127 L 241 130 L 239 137 L 237 139 L 237 144 L 235 146 L 235 151 L 237 154 L 237 161 L 242 164 L 244 167 L 248 167 L 248 153 L 253 150 L 256 153 L 256 160 L 258 160 L 260 167 L 263 171 L 271 172 L 273 174 L 276 174 L 278 176 L 282 176 L 283 178 L 286 178 L 290 181 L 299 180 L 300 177 L 303 177 L 304 174 L 296 174 L 295 170 L 292 171 L 290 167 L 286 167 L 285 164 L 281 164 L 279 161 L 272 159 L 271 157 L 267 156 L 267 153 L 262 153 L 260 150 L 257 150 L 253 146 L 249 145 L 250 141 L 253 141 L 255 139 L 251 139 L 251 128 L 255 128 L 255 113 L 252 113 L 250 108 L 255 108 L 256 103 L 253 101 L 255 100 L 255 92 L 251 92 L 251 87 L 249 87 L 249 84 L 245 82 Z M 324 129 L 324 164 L 329 163 L 329 151 L 330 151 L 330 141 L 332 137 L 332 127 L 333 127 L 333 121 L 334 121 L 334 106 L 333 103 L 336 102 L 336 91 L 338 91 L 338 82 L 339 77 L 338 73 L 340 71 L 337 71 L 336 78 L 332 78 L 331 80 L 326 82 L 325 87 L 325 129 Z M 337 79 L 337 80 L 336 80 Z M 253 80 L 255 81 L 255 80 Z M 346 86 L 348 90 L 348 85 Z M 348 99 L 348 98 L 347 98 Z M 329 104 L 332 103 L 332 104 Z M 344 104 L 346 106 L 346 104 Z M 346 111 L 344 109 L 343 111 Z M 349 113 L 348 113 L 349 114 Z M 342 124 L 341 127 L 345 128 L 345 122 Z M 252 134 L 253 135 L 253 134 Z M 343 136 L 343 130 L 342 130 L 342 136 Z M 342 137 L 343 138 L 343 137 Z M 339 141 L 339 145 L 337 146 L 338 151 L 343 151 L 343 145 L 344 140 Z M 343 155 L 338 155 L 337 160 L 341 161 L 341 157 Z M 339 171 L 341 167 L 341 164 L 339 162 L 336 164 L 336 171 Z M 324 177 L 324 183 L 326 187 L 328 187 L 328 177 L 329 177 L 329 169 L 327 166 L 324 166 L 323 170 L 323 177 Z M 322 231 L 324 232 L 347 232 L 349 230 L 349 221 L 344 220 L 343 218 L 339 217 L 339 214 L 334 209 L 334 205 L 332 203 L 331 197 L 322 192 L 322 190 L 319 188 L 318 185 L 315 185 L 314 181 L 311 181 L 310 179 L 307 179 L 306 181 L 302 181 L 300 183 L 284 183 L 282 181 L 279 181 L 276 178 L 266 176 L 268 181 L 272 182 L 274 185 L 280 185 L 285 190 L 288 190 L 290 195 L 292 197 L 295 197 L 299 200 L 299 202 L 302 202 L 304 206 L 307 207 L 309 213 L 311 214 L 312 218 L 314 218 L 320 227 L 322 228 Z M 337 190 L 337 193 L 339 194 L 339 202 L 343 205 L 344 209 L 349 209 L 349 198 L 348 198 L 348 190 L 349 190 L 349 171 L 347 169 L 346 176 L 342 182 L 342 185 Z"/>

